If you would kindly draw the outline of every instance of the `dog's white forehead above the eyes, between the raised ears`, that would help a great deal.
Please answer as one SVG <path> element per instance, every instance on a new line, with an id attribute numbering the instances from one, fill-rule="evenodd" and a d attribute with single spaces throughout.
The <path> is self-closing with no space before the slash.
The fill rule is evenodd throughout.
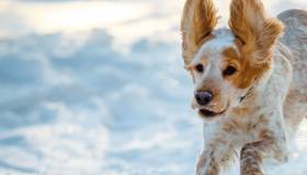
<path id="1" fill-rule="evenodd" d="M 238 51 L 234 34 L 227 28 L 216 30 L 212 33 L 212 38 L 201 47 L 195 58 L 202 59 L 204 57 L 218 56 L 227 48 Z"/>

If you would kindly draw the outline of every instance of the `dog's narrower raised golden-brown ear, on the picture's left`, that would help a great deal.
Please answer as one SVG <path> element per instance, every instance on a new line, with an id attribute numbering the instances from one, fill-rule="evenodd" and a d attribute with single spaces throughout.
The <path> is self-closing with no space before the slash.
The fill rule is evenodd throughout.
<path id="1" fill-rule="evenodd" d="M 184 63 L 189 65 L 217 24 L 212 0 L 186 0 L 181 20 Z"/>

